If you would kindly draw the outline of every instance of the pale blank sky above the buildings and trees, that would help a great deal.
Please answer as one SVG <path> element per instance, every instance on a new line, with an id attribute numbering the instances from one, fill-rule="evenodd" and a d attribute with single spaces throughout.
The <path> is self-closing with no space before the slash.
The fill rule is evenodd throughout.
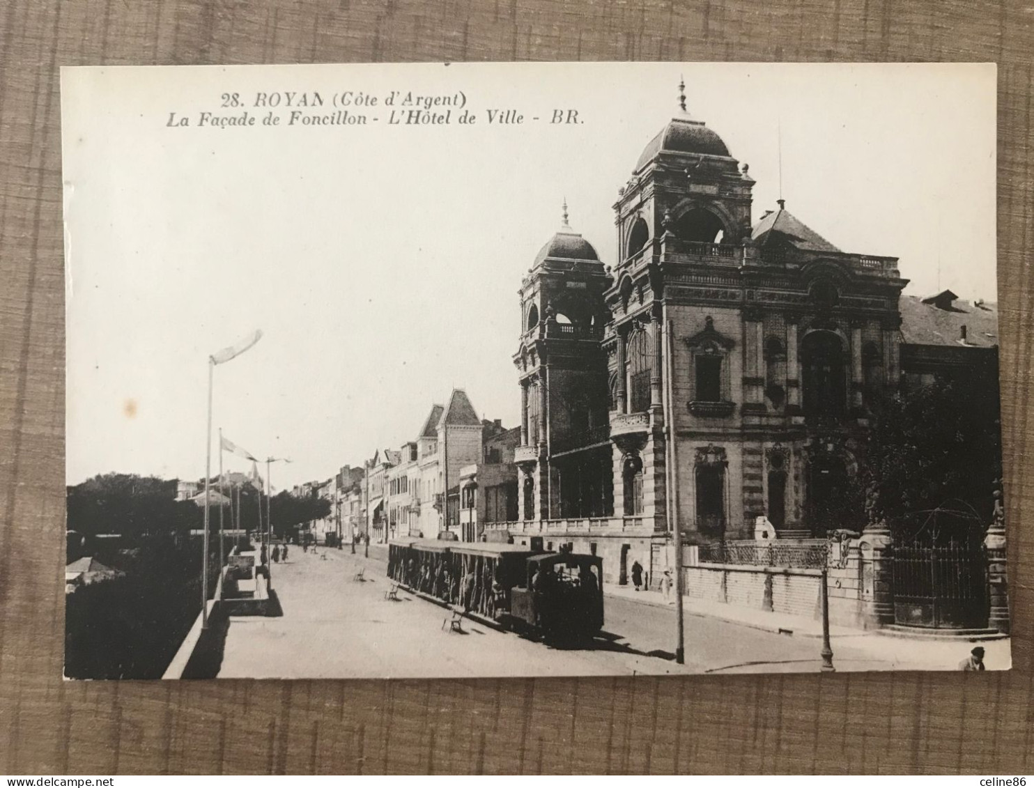
<path id="1" fill-rule="evenodd" d="M 994 65 L 65 69 L 68 482 L 203 476 L 207 358 L 255 328 L 215 370 L 213 433 L 293 458 L 278 488 L 414 440 L 452 386 L 516 425 L 520 278 L 565 196 L 615 262 L 617 187 L 680 74 L 691 115 L 750 163 L 755 220 L 779 196 L 782 127 L 797 218 L 901 257 L 907 293 L 997 299 Z M 389 126 L 379 107 L 352 109 L 381 119 L 365 127 L 270 128 L 249 109 L 260 125 L 165 126 L 225 112 L 222 93 L 346 90 L 463 91 L 478 121 Z M 488 125 L 493 108 L 525 123 Z M 582 123 L 546 122 L 568 108 Z"/>

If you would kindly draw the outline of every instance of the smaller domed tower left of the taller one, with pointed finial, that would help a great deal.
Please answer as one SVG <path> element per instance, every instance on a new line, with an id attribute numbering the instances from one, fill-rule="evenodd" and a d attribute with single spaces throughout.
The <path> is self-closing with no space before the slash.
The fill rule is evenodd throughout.
<path id="1" fill-rule="evenodd" d="M 610 506 L 607 362 L 601 347 L 611 278 L 592 245 L 560 230 L 521 281 L 520 516 L 600 517 Z"/>

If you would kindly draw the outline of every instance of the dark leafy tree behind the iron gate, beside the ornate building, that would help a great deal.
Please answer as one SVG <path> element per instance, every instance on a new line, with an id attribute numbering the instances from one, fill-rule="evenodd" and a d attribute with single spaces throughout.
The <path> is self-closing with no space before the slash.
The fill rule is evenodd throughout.
<path id="1" fill-rule="evenodd" d="M 909 535 L 991 521 L 1002 473 L 997 367 L 885 399 L 866 448 L 870 517 Z"/>

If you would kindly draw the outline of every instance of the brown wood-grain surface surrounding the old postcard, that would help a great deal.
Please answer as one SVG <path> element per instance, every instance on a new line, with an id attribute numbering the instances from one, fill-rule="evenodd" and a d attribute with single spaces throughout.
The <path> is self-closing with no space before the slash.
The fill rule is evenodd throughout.
<path id="1" fill-rule="evenodd" d="M 0 4 L 0 772 L 1034 771 L 1032 25 L 968 0 Z M 1011 672 L 62 681 L 58 67 L 513 59 L 999 63 Z"/>

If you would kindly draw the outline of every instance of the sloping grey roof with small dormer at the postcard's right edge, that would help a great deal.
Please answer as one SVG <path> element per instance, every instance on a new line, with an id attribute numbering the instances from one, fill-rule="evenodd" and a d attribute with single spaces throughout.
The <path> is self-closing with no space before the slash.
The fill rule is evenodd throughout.
<path id="1" fill-rule="evenodd" d="M 955 301 L 945 309 L 936 306 L 931 299 L 902 296 L 898 307 L 902 314 L 902 337 L 909 344 L 998 346 L 998 304 Z M 965 342 L 962 341 L 963 326 L 966 327 Z"/>

